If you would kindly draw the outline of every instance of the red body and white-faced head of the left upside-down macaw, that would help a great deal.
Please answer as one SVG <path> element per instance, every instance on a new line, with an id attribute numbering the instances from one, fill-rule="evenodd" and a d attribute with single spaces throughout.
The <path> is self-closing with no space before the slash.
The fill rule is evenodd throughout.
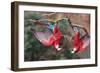
<path id="1" fill-rule="evenodd" d="M 53 34 L 50 36 L 48 40 L 47 39 L 42 40 L 42 44 L 45 46 L 53 45 L 56 50 L 61 50 L 61 48 L 59 48 L 61 38 L 62 38 L 62 34 L 59 31 L 57 25 L 55 25 Z"/>

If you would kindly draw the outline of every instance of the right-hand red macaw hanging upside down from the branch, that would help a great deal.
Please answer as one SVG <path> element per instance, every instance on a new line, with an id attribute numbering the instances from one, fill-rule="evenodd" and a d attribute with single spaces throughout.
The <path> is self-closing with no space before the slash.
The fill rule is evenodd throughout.
<path id="1" fill-rule="evenodd" d="M 73 36 L 73 50 L 72 53 L 80 53 L 86 49 L 89 45 L 89 37 L 87 36 L 87 30 L 84 28 L 85 35 L 81 37 L 80 30 L 74 29 L 74 36 Z"/>

